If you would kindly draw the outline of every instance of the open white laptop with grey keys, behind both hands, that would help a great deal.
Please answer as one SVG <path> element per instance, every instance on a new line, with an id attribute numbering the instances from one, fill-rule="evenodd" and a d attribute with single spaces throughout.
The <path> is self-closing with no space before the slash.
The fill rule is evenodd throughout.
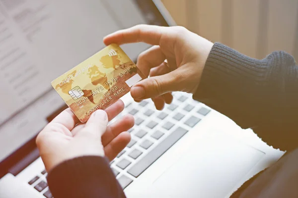
<path id="1" fill-rule="evenodd" d="M 1 198 L 53 197 L 35 145 L 67 108 L 50 82 L 136 24 L 175 25 L 159 0 L 0 0 Z M 150 46 L 122 47 L 136 60 Z M 110 164 L 128 198 L 229 197 L 284 154 L 189 94 L 174 93 L 162 111 L 122 100 L 119 117 L 130 113 L 136 125 Z"/>

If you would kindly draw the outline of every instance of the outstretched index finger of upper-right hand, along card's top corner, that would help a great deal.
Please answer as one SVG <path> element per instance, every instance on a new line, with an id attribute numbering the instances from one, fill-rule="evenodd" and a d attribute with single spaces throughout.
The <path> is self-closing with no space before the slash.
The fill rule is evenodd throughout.
<path id="1" fill-rule="evenodd" d="M 161 35 L 166 27 L 153 25 L 136 25 L 134 27 L 119 30 L 103 39 L 105 45 L 112 43 L 122 45 L 128 43 L 144 42 L 150 45 L 159 45 Z"/>

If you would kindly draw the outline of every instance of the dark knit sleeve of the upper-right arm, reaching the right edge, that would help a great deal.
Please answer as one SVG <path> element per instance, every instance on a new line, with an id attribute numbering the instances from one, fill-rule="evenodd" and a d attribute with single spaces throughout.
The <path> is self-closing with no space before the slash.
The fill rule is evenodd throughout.
<path id="1" fill-rule="evenodd" d="M 193 98 L 273 147 L 298 147 L 298 67 L 284 51 L 258 60 L 215 43 Z"/>

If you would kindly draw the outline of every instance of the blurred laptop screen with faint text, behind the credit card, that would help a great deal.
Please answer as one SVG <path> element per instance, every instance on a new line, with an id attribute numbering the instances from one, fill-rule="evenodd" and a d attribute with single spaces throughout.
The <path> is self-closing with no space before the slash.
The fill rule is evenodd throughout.
<path id="1" fill-rule="evenodd" d="M 65 105 L 51 81 L 136 24 L 166 25 L 145 0 L 0 0 L 0 161 Z M 124 45 L 136 59 L 146 44 Z"/>

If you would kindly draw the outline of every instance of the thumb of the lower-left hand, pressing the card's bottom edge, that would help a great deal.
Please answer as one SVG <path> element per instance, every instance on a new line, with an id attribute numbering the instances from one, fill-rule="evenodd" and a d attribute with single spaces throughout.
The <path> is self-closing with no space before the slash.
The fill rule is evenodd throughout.
<path id="1" fill-rule="evenodd" d="M 106 131 L 108 125 L 108 116 L 104 110 L 96 110 L 93 112 L 86 122 L 82 131 L 92 135 L 99 135 L 100 137 Z"/>

